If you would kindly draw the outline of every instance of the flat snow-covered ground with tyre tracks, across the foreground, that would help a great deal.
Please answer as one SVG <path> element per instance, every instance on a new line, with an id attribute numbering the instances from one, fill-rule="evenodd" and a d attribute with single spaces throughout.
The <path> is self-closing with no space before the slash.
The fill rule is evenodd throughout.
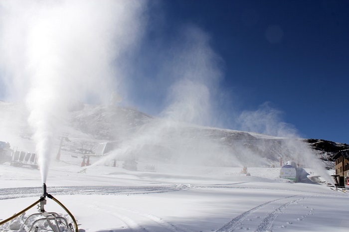
<path id="1" fill-rule="evenodd" d="M 249 167 L 251 176 L 245 176 L 241 168 L 156 164 L 157 172 L 144 172 L 140 162 L 139 171 L 119 163 L 81 172 L 80 158 L 63 153 L 61 160 L 51 163 L 47 192 L 70 210 L 80 232 L 349 230 L 349 195 L 279 179 L 279 168 Z M 41 192 L 38 170 L 0 165 L 0 221 L 37 201 Z M 45 210 L 67 216 L 50 199 Z M 23 219 L 36 212 L 34 207 Z M 22 231 L 20 223 L 13 225 L 12 220 L 0 231 Z"/>

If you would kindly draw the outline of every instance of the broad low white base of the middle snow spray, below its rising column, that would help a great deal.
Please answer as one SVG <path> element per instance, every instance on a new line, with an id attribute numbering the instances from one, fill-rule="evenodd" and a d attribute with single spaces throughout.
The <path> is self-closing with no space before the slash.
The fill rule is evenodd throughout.
<path id="1" fill-rule="evenodd" d="M 155 120 L 154 123 L 143 126 L 131 138 L 120 141 L 115 150 L 86 168 L 104 165 L 112 159 L 128 158 L 164 162 L 183 169 L 192 166 L 242 166 L 227 146 L 215 140 L 204 139 L 202 126 L 165 118 Z"/>

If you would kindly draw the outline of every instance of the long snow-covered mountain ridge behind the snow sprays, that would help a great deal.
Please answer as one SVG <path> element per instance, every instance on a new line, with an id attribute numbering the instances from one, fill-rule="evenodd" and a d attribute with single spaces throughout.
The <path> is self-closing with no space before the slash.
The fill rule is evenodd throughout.
<path id="1" fill-rule="evenodd" d="M 28 113 L 20 104 L 0 102 L 0 140 L 21 149 L 32 144 Z M 157 118 L 135 108 L 80 104 L 71 110 L 60 133 L 69 137 L 63 149 L 74 152 L 83 144 L 95 151 L 98 143 L 112 141 L 124 152 L 143 159 L 213 166 L 279 166 L 283 161 L 302 164 L 308 149 L 326 167 L 330 158 L 348 144 L 321 139 L 275 137 L 255 132 L 198 126 Z M 24 141 L 24 142 L 23 142 Z M 300 145 L 301 144 L 301 145 Z M 302 148 L 300 148 L 302 147 Z"/>

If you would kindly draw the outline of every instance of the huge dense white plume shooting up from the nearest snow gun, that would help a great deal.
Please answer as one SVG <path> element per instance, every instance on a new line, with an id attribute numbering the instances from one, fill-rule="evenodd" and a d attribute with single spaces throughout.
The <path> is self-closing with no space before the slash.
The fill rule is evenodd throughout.
<path id="1" fill-rule="evenodd" d="M 141 35 L 143 10 L 132 0 L 0 2 L 1 77 L 7 99 L 25 99 L 43 182 L 69 107 L 106 103 L 121 87 L 118 65 Z"/>

